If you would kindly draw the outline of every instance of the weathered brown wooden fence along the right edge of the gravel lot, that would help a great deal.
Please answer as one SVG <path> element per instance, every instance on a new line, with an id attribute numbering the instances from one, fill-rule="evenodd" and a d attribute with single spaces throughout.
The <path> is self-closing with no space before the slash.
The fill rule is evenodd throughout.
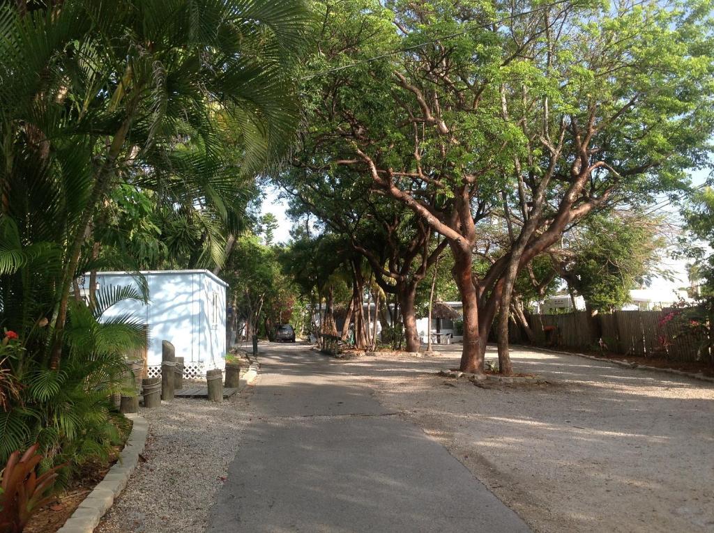
<path id="1" fill-rule="evenodd" d="M 598 314 L 593 320 L 585 311 L 562 315 L 528 315 L 536 344 L 545 344 L 543 328 L 557 328 L 557 345 L 579 349 L 599 349 L 600 338 L 609 352 L 644 357 L 668 357 L 680 361 L 707 360 L 705 338 L 680 335 L 677 320 L 661 323 L 671 310 L 615 311 Z M 511 342 L 524 342 L 521 328 L 511 323 Z"/>

